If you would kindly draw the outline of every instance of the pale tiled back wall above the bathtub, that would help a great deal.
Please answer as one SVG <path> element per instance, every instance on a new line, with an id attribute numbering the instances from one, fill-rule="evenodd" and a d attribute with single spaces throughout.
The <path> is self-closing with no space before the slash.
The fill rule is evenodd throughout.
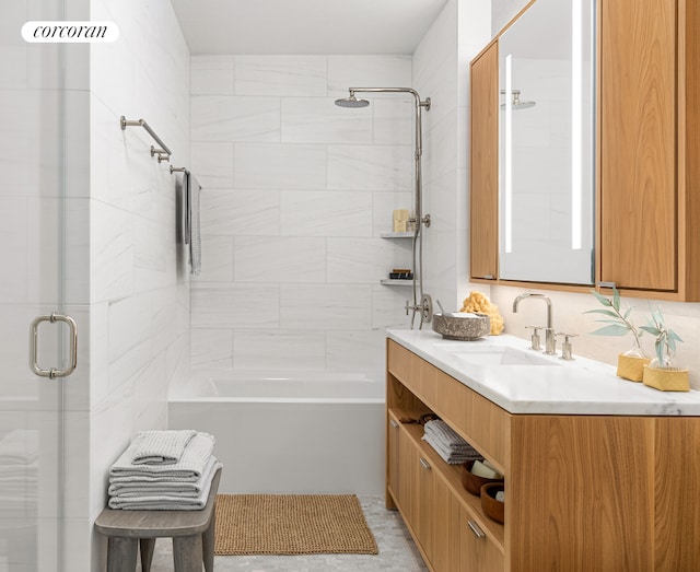
<path id="1" fill-rule="evenodd" d="M 194 369 L 381 375 L 382 329 L 406 324 L 409 295 L 380 279 L 410 266 L 410 241 L 380 233 L 412 205 L 411 100 L 334 101 L 410 83 L 410 56 L 191 57 Z"/>

